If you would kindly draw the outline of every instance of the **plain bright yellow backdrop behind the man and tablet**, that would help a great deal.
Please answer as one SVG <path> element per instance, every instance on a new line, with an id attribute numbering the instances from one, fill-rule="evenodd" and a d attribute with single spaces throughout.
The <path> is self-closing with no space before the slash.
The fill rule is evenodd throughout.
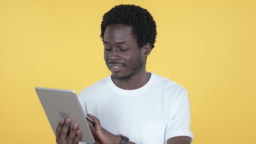
<path id="1" fill-rule="evenodd" d="M 147 8 L 147 70 L 189 91 L 193 144 L 256 144 L 255 0 L 0 0 L 0 143 L 55 144 L 35 86 L 80 92 L 110 74 L 100 23 Z"/>

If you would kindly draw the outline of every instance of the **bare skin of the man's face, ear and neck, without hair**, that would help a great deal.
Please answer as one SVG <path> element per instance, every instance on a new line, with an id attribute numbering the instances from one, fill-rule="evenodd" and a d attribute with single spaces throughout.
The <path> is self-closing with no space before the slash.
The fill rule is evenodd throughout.
<path id="1" fill-rule="evenodd" d="M 130 26 L 123 24 L 110 25 L 105 30 L 103 40 L 104 60 L 112 72 L 112 81 L 125 90 L 142 87 L 151 76 L 145 64 L 151 45 L 147 43 L 139 48 L 131 30 Z"/>

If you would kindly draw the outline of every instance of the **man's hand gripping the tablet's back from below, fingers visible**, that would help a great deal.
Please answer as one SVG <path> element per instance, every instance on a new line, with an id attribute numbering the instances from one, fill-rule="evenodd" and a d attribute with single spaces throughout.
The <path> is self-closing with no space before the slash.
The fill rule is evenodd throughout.
<path id="1" fill-rule="evenodd" d="M 78 129 L 78 124 L 74 123 L 72 130 L 69 132 L 71 120 L 61 119 L 56 128 L 56 142 L 57 144 L 78 144 L 81 141 L 81 131 Z"/>

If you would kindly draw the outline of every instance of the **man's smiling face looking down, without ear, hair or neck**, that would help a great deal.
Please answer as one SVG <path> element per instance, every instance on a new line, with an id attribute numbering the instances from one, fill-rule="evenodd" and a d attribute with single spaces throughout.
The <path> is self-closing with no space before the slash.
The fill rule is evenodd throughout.
<path id="1" fill-rule="evenodd" d="M 115 24 L 108 26 L 104 33 L 104 59 L 116 79 L 128 79 L 144 64 L 141 48 L 131 32 L 130 26 Z"/>

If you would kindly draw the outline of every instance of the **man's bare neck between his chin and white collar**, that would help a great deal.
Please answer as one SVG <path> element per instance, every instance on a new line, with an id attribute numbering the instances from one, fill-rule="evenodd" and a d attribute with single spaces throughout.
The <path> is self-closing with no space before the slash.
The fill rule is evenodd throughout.
<path id="1" fill-rule="evenodd" d="M 125 80 L 118 80 L 118 79 L 115 79 L 114 77 L 111 77 L 111 79 L 113 83 L 119 88 L 122 88 L 125 90 L 135 90 L 146 85 L 150 77 L 151 77 L 151 73 L 144 70 L 136 73 L 135 75 Z"/>

